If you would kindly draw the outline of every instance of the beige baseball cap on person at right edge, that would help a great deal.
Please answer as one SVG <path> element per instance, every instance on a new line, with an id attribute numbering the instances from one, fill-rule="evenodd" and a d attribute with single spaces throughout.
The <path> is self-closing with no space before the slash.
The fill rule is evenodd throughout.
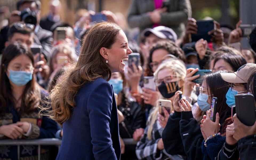
<path id="1" fill-rule="evenodd" d="M 254 72 L 256 72 L 256 64 L 247 63 L 234 73 L 221 73 L 221 78 L 229 83 L 247 83 Z"/>

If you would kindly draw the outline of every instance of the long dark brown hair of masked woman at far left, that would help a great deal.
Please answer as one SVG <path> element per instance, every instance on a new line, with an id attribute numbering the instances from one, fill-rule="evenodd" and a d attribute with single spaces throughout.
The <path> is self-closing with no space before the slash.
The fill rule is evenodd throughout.
<path id="1" fill-rule="evenodd" d="M 13 89 L 9 78 L 6 75 L 8 65 L 11 60 L 19 55 L 26 55 L 34 65 L 33 54 L 28 50 L 26 45 L 21 43 L 10 44 L 3 52 L 1 61 L 0 73 L 0 114 L 6 113 L 7 107 L 10 103 L 17 104 L 17 100 L 13 96 Z M 21 108 L 19 114 L 27 114 L 35 111 L 41 101 L 40 87 L 33 77 L 31 81 L 26 84 L 26 87 L 21 95 Z M 17 106 L 19 107 L 19 106 Z"/>

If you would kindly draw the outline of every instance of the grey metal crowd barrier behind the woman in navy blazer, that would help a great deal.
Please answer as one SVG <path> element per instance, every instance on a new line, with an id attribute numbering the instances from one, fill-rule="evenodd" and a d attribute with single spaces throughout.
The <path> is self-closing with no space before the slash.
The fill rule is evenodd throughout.
<path id="1" fill-rule="evenodd" d="M 123 142 L 125 145 L 136 145 L 137 141 L 134 141 L 132 138 L 123 138 Z M 4 139 L 0 140 L 0 146 L 17 146 L 18 151 L 18 160 L 20 159 L 20 146 L 27 145 L 27 146 L 38 146 L 38 160 L 40 160 L 40 150 L 41 146 L 58 146 L 61 145 L 61 140 L 57 138 L 43 138 L 43 139 L 19 139 L 19 140 L 12 140 L 12 139 Z"/>

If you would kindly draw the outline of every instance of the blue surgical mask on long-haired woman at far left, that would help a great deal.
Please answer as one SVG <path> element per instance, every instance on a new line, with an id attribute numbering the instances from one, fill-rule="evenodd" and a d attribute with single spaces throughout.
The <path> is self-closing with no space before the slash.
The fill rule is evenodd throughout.
<path id="1" fill-rule="evenodd" d="M 17 86 L 25 86 L 31 81 L 33 72 L 9 70 L 9 80 Z"/>

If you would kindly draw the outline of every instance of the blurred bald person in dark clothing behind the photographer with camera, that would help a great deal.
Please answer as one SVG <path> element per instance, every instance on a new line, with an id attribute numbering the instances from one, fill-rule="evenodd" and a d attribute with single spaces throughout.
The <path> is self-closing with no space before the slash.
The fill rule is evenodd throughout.
<path id="1" fill-rule="evenodd" d="M 60 22 L 61 17 L 59 12 L 61 10 L 61 2 L 59 0 L 51 0 L 49 3 L 49 13 L 46 17 L 43 17 L 40 21 L 42 29 L 51 31 L 51 27 Z"/>

